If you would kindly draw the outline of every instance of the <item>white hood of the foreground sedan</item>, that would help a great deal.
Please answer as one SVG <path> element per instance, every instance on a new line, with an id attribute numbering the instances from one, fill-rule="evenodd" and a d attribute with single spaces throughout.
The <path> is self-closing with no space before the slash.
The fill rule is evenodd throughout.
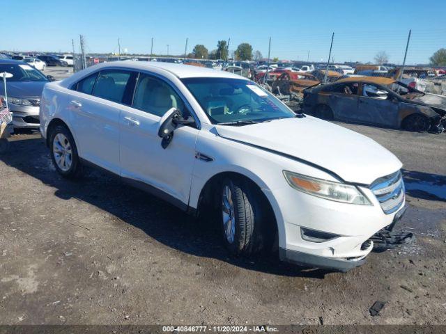
<path id="1" fill-rule="evenodd" d="M 402 166 L 391 152 L 366 136 L 307 116 L 254 125 L 216 125 L 223 138 L 274 150 L 309 161 L 347 182 L 371 184 Z"/>

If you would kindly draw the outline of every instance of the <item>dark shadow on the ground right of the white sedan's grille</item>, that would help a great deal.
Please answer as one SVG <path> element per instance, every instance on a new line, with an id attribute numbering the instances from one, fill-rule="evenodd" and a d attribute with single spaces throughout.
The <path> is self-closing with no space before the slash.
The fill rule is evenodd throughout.
<path id="1" fill-rule="evenodd" d="M 402 170 L 406 193 L 413 198 L 446 202 L 446 175 Z"/>

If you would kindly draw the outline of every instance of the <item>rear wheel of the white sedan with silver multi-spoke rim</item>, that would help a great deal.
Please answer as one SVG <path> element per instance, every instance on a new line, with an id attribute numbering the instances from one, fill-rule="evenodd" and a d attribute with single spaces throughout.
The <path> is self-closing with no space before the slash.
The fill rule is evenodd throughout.
<path id="1" fill-rule="evenodd" d="M 81 164 L 70 130 L 63 125 L 56 125 L 49 134 L 49 138 L 51 159 L 57 172 L 63 177 L 77 177 Z"/>

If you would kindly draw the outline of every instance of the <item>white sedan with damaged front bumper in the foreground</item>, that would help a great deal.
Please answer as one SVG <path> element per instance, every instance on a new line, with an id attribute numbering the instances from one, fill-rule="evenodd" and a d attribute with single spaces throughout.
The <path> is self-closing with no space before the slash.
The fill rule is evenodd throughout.
<path id="1" fill-rule="evenodd" d="M 210 212 L 236 255 L 346 271 L 400 218 L 401 162 L 371 139 L 302 114 L 243 77 L 172 63 L 103 63 L 45 86 L 40 132 L 56 169 L 120 175 Z"/>

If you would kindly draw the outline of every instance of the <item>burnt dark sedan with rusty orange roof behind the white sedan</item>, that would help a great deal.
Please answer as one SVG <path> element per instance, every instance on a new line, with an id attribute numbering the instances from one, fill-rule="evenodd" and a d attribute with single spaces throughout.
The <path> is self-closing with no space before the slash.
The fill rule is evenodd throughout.
<path id="1" fill-rule="evenodd" d="M 446 127 L 446 97 L 423 93 L 385 77 L 350 77 L 304 90 L 304 112 L 344 120 L 440 133 Z"/>

